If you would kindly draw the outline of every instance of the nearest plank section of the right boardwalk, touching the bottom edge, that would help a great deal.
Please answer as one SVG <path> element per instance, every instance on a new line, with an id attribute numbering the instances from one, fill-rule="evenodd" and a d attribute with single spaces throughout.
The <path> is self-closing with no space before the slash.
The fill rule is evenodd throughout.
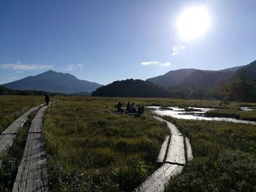
<path id="1" fill-rule="evenodd" d="M 151 174 L 150 177 L 142 184 L 136 191 L 165 191 L 165 185 L 170 177 L 180 173 L 183 166 L 175 164 L 163 164 L 156 172 Z"/>

